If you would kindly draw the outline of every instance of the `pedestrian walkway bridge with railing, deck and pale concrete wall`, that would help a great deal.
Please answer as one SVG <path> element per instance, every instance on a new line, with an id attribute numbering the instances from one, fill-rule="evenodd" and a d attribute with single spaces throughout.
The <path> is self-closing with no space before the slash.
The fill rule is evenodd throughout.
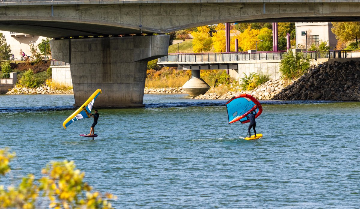
<path id="1" fill-rule="evenodd" d="M 234 78 L 242 78 L 243 73 L 269 74 L 270 78 L 280 77 L 279 63 L 287 51 L 258 51 L 230 53 L 179 53 L 158 58 L 161 67 L 177 67 L 179 70 L 229 69 Z M 351 58 L 351 50 L 308 51 L 311 59 Z"/>

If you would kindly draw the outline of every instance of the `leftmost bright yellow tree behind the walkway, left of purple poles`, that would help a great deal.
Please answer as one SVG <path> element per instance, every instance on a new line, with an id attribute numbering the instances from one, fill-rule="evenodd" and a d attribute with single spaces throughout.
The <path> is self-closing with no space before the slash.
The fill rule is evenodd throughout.
<path id="1" fill-rule="evenodd" d="M 210 28 L 208 26 L 201 26 L 197 27 L 197 30 L 197 32 L 191 33 L 191 35 L 194 37 L 193 51 L 195 53 L 209 51 L 212 44 L 212 39 L 209 35 Z"/>

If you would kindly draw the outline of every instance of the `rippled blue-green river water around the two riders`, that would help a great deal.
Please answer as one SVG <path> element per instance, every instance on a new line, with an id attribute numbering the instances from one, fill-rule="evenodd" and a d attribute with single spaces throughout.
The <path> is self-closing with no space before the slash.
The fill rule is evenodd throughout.
<path id="1" fill-rule="evenodd" d="M 63 121 L 73 95 L 0 95 L 0 147 L 17 153 L 12 182 L 74 160 L 115 208 L 358 208 L 360 103 L 262 101 L 259 140 L 228 124 L 225 100 L 145 95 L 145 108 Z M 96 103 L 95 103 L 96 104 Z M 9 178 L 9 177 L 8 177 Z M 0 184 L 9 184 L 0 178 Z"/>

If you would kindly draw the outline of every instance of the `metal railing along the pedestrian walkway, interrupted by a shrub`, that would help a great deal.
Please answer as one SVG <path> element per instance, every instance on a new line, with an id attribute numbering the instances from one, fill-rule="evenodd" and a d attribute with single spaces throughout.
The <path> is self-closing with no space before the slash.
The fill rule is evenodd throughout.
<path id="1" fill-rule="evenodd" d="M 287 51 L 259 51 L 255 53 L 247 52 L 227 52 L 227 53 L 192 53 L 192 54 L 168 54 L 158 58 L 158 62 L 232 62 L 245 60 L 281 60 Z M 304 56 L 311 59 L 319 58 L 351 58 L 351 50 L 332 50 L 332 51 L 308 51 Z"/>

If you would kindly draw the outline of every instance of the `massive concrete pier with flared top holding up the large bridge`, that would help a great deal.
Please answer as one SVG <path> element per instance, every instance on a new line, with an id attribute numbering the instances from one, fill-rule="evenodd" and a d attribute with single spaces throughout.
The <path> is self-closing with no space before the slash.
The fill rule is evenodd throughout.
<path id="1" fill-rule="evenodd" d="M 96 106 L 144 106 L 147 62 L 168 52 L 168 35 L 50 41 L 54 59 L 70 64 L 75 106 L 100 88 Z"/>

